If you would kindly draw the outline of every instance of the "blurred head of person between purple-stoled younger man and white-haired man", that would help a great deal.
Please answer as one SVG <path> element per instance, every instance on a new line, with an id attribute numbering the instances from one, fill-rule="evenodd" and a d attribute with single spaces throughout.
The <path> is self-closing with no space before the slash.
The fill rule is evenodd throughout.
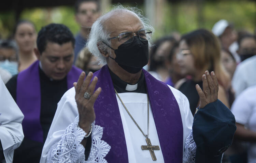
<path id="1" fill-rule="evenodd" d="M 103 66 L 97 62 L 97 58 L 86 47 L 80 51 L 75 65 L 85 71 L 86 75 L 90 71 L 93 73 L 98 71 Z"/>

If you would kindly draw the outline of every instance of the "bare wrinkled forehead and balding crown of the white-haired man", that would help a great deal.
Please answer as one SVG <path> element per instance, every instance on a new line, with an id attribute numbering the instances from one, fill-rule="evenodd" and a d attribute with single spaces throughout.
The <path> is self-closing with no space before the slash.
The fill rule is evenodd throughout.
<path id="1" fill-rule="evenodd" d="M 138 15 L 129 10 L 111 11 L 104 15 L 103 26 L 112 35 L 122 32 L 138 31 L 143 28 Z"/>

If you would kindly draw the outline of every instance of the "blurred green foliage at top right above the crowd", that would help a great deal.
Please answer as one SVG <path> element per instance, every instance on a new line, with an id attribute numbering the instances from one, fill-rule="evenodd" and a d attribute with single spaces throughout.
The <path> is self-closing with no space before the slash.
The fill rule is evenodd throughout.
<path id="1" fill-rule="evenodd" d="M 220 19 L 233 23 L 237 30 L 246 29 L 253 33 L 256 28 L 255 1 L 204 1 L 201 5 L 202 9 L 199 11 L 197 3 L 192 1 L 169 3 L 165 7 L 163 32 L 156 31 L 156 35 L 161 36 L 172 31 L 184 34 L 198 28 L 211 30 Z"/>

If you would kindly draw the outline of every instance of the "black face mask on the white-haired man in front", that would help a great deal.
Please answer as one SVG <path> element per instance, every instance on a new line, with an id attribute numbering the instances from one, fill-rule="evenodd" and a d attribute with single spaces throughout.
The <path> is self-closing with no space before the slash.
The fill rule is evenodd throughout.
<path id="1" fill-rule="evenodd" d="M 109 57 L 131 74 L 138 73 L 148 63 L 148 41 L 140 40 L 138 36 L 134 36 L 133 42 L 122 44 L 113 50 L 115 51 L 116 58 Z"/>

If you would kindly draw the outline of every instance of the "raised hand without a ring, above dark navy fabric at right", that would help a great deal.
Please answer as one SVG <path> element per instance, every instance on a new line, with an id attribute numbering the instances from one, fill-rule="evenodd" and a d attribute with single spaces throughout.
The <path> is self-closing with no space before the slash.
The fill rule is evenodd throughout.
<path id="1" fill-rule="evenodd" d="M 203 91 L 200 86 L 197 84 L 196 89 L 200 98 L 200 108 L 205 107 L 205 105 L 214 102 L 218 99 L 218 81 L 214 72 L 209 74 L 209 71 L 205 71 L 205 74 L 202 76 L 203 80 Z"/>

